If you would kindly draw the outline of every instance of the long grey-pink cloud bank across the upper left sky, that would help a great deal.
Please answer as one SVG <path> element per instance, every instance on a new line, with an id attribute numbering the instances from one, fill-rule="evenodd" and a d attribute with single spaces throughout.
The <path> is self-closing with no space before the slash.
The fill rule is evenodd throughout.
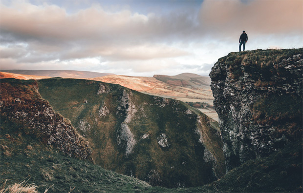
<path id="1" fill-rule="evenodd" d="M 26 11 L 29 9 L 30 12 Z M 127 41 L 153 37 L 166 39 L 177 34 L 183 36 L 192 33 L 194 16 L 189 17 L 190 11 L 168 16 L 145 16 L 133 14 L 129 10 L 110 13 L 95 5 L 68 15 L 64 9 L 55 5 L 38 7 L 29 3 L 15 3 L 12 7 L 1 7 L 1 29 L 24 37 L 58 41 L 90 38 L 119 41 L 125 38 L 128 38 L 125 39 Z"/>

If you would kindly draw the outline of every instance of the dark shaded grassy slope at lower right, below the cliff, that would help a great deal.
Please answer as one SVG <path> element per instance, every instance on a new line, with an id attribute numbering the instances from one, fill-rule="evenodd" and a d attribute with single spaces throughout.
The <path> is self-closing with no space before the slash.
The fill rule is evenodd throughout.
<path id="1" fill-rule="evenodd" d="M 302 145 L 302 141 L 291 142 L 268 157 L 248 160 L 219 180 L 202 187 L 158 192 L 302 193 Z"/>

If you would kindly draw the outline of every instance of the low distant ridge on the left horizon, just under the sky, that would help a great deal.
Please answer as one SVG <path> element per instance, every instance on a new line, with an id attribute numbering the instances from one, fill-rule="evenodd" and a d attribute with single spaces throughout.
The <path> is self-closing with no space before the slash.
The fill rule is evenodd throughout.
<path id="1" fill-rule="evenodd" d="M 0 70 L 1 72 L 14 73 L 20 75 L 33 75 L 43 77 L 63 77 L 63 78 L 93 78 L 112 75 L 109 73 L 97 73 L 76 70 Z"/>

